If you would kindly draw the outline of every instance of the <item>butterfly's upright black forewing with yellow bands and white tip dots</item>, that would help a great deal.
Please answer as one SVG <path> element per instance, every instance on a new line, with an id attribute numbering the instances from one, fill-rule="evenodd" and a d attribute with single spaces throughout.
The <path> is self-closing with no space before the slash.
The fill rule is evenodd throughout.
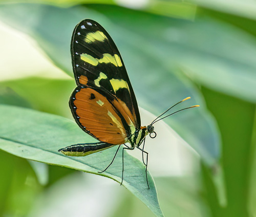
<path id="1" fill-rule="evenodd" d="M 77 85 L 90 86 L 108 97 L 117 110 L 124 110 L 123 116 L 129 116 L 123 119 L 139 128 L 140 115 L 131 82 L 114 41 L 103 27 L 96 21 L 82 20 L 73 32 L 71 53 Z"/>

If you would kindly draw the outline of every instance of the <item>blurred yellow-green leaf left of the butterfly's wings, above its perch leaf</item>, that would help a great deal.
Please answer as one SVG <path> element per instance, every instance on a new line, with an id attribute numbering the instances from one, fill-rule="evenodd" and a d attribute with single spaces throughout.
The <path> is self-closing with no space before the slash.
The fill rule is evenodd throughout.
<path id="1" fill-rule="evenodd" d="M 36 77 L 0 82 L 0 86 L 3 86 L 3 89 L 10 90 L 15 95 L 18 93 L 35 110 L 65 117 L 72 116 L 68 101 L 72 91 L 75 89 L 75 85 L 75 81 L 72 79 L 61 80 Z M 12 102 L 11 105 L 23 106 L 23 103 L 17 100 L 15 96 L 7 95 L 6 92 L 2 92 L 2 94 L 3 96 L 0 94 L 0 102 L 8 99 L 9 102 Z"/>

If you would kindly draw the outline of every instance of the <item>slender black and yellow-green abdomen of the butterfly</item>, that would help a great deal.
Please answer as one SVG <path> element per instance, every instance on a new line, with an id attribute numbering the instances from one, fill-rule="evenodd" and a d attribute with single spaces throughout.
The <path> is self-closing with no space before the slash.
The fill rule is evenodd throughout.
<path id="1" fill-rule="evenodd" d="M 58 151 L 63 153 L 67 156 L 74 156 L 74 157 L 82 157 L 91 155 L 98 151 L 107 149 L 114 146 L 113 144 L 104 143 L 104 142 L 97 142 L 97 143 L 84 143 L 84 144 L 76 144 L 70 145 L 65 148 L 61 148 Z"/>

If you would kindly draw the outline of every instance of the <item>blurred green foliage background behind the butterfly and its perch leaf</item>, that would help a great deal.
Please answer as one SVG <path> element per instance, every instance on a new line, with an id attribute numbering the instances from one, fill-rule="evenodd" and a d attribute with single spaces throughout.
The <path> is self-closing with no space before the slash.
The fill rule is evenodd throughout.
<path id="1" fill-rule="evenodd" d="M 122 55 L 142 124 L 187 96 L 178 108 L 200 104 L 146 141 L 164 215 L 256 215 L 255 2 L 1 1 L 0 17 L 0 104 L 72 119 L 70 40 L 94 19 Z M 9 154 L 15 115 L 0 113 L 0 216 L 154 216 L 113 180 Z"/>

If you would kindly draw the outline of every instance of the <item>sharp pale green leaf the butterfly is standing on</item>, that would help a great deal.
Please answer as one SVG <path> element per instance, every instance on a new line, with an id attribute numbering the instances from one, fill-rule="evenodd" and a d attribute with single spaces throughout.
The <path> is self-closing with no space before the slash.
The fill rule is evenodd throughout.
<path id="1" fill-rule="evenodd" d="M 121 182 L 121 151 L 108 170 L 98 173 L 111 162 L 116 147 L 80 158 L 63 156 L 58 152 L 59 148 L 67 145 L 95 141 L 72 121 L 8 105 L 0 105 L 0 114 L 0 149 L 29 160 L 82 170 Z M 163 216 L 155 184 L 149 172 L 148 183 L 150 189 L 147 188 L 143 163 L 125 152 L 123 185 L 156 216 Z"/>

